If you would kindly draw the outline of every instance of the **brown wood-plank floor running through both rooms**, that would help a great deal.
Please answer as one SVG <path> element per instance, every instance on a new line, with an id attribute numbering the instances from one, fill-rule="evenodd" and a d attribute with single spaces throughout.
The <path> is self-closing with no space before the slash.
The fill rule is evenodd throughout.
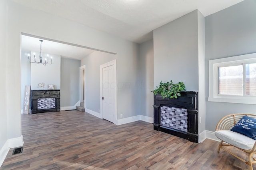
<path id="1" fill-rule="evenodd" d="M 10 149 L 0 170 L 248 168 L 223 150 L 217 153 L 216 141 L 206 139 L 200 144 L 192 143 L 155 131 L 147 122 L 116 126 L 76 110 L 22 114 L 22 135 L 23 152 L 12 155 L 13 149 Z"/>

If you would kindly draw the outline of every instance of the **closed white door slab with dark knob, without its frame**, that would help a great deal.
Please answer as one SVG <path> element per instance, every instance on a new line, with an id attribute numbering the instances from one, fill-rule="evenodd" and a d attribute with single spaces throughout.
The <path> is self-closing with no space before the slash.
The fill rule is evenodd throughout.
<path id="1" fill-rule="evenodd" d="M 115 86 L 114 66 L 102 68 L 102 117 L 115 122 Z"/>

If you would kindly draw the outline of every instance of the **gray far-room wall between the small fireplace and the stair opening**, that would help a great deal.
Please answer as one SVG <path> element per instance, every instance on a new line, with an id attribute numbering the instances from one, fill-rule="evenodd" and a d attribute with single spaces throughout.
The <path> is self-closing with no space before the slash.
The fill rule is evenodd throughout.
<path id="1" fill-rule="evenodd" d="M 80 60 L 61 57 L 60 60 L 60 106 L 74 106 L 79 101 Z"/>

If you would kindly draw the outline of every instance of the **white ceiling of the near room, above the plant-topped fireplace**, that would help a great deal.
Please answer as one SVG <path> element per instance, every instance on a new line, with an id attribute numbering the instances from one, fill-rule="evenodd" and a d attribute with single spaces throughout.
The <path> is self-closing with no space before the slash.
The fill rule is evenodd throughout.
<path id="1" fill-rule="evenodd" d="M 142 43 L 152 39 L 152 30 L 193 10 L 198 9 L 204 16 L 208 16 L 243 0 L 13 1 L 136 43 Z"/>

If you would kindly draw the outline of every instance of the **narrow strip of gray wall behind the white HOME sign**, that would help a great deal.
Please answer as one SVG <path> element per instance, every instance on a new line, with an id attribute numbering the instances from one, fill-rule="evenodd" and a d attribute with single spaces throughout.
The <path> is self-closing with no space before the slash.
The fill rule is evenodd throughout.
<path id="1" fill-rule="evenodd" d="M 25 50 L 21 51 L 21 109 L 23 109 L 24 106 L 25 86 L 30 86 L 31 83 L 31 64 L 28 62 L 28 54 L 31 54 L 31 52 Z"/>

